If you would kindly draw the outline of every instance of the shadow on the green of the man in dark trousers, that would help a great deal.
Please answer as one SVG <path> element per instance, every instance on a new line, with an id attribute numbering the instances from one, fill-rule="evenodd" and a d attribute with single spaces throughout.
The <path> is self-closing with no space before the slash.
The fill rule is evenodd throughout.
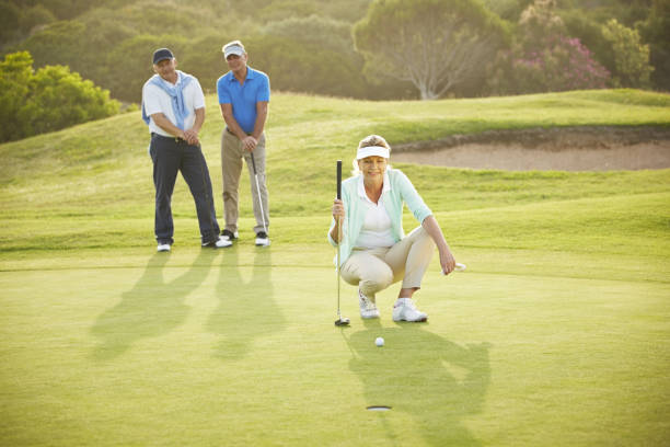
<path id="1" fill-rule="evenodd" d="M 185 273 L 166 280 L 164 266 L 170 253 L 154 253 L 135 286 L 91 328 L 100 339 L 93 358 L 115 358 L 135 342 L 160 336 L 182 324 L 190 310 L 184 300 L 205 280 L 216 256 L 217 251 L 203 249 Z"/>

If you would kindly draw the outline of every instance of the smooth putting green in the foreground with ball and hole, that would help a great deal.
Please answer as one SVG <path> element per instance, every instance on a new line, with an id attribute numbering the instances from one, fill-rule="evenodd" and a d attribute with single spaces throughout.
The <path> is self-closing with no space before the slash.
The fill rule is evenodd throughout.
<path id="1" fill-rule="evenodd" d="M 0 273 L 2 445 L 670 438 L 668 280 L 632 256 L 457 253 L 467 272 L 435 263 L 417 294 L 427 323 L 391 320 L 396 287 L 363 322 L 343 283 L 345 329 L 324 245 L 15 262 Z"/>

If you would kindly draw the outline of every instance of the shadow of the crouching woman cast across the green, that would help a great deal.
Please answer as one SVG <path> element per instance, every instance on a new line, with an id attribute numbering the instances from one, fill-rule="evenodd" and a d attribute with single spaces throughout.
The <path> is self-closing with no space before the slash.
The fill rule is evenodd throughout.
<path id="1" fill-rule="evenodd" d="M 343 334 L 354 354 L 349 367 L 363 385 L 368 405 L 391 406 L 412 417 L 429 445 L 480 446 L 462 420 L 484 405 L 490 381 L 488 343 L 458 345 L 426 324 L 382 328 L 368 320 L 365 325 L 348 339 L 350 330 Z M 374 345 L 378 336 L 384 339 L 383 347 Z M 392 426 L 382 423 L 389 442 L 400 443 Z"/>

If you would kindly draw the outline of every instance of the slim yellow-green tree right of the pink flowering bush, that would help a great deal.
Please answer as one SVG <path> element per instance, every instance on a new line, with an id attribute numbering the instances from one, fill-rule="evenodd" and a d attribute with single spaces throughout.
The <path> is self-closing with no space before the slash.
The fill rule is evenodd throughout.
<path id="1" fill-rule="evenodd" d="M 649 65 L 649 45 L 640 43 L 639 33 L 612 19 L 602 27 L 602 35 L 614 50 L 614 87 L 648 88 L 654 68 Z"/>

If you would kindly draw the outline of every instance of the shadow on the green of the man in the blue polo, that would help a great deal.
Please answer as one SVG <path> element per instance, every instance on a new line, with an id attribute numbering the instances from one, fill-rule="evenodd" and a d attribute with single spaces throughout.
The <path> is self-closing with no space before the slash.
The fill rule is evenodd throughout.
<path id="1" fill-rule="evenodd" d="M 224 360 L 243 358 L 256 340 L 280 332 L 286 324 L 273 297 L 270 249 L 256 248 L 252 266 L 240 265 L 239 250 L 236 245 L 226 250 L 217 285 L 219 306 L 207 323 L 221 337 L 213 356 Z"/>

